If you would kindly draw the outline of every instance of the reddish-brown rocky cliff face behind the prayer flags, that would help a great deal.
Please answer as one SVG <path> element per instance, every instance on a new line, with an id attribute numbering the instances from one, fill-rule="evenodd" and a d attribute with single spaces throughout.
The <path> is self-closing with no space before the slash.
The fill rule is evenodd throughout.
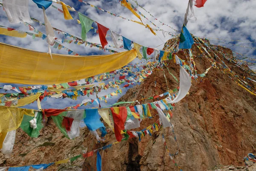
<path id="1" fill-rule="evenodd" d="M 232 55 L 230 49 L 218 48 L 225 54 Z M 194 45 L 192 53 L 195 56 L 201 54 Z M 188 53 L 183 51 L 177 53 L 183 60 L 186 60 L 186 54 Z M 249 76 L 223 59 L 220 53 L 217 55 L 236 75 Z M 211 66 L 204 57 L 195 57 L 195 64 L 198 73 L 203 73 Z M 166 67 L 179 78 L 179 67 L 173 61 Z M 177 88 L 179 84 L 166 67 L 163 67 L 164 72 L 160 69 L 154 70 L 141 85 L 128 90 L 119 101 L 140 100 Z M 140 103 L 152 101 L 153 99 L 144 100 Z M 153 109 L 151 113 L 154 115 L 156 111 Z M 166 128 L 153 132 L 152 136 L 145 136 L 141 142 L 132 138 L 114 144 L 100 152 L 102 171 L 179 170 L 166 151 L 162 134 L 171 154 L 175 154 L 179 149 L 173 159 L 183 171 L 207 171 L 217 165 L 243 166 L 243 157 L 249 152 L 256 152 L 256 96 L 239 87 L 218 68 L 210 69 L 206 77 L 199 78 L 198 81 L 193 80 L 189 95 L 175 104 L 172 113 L 171 122 L 177 143 L 172 128 Z M 143 120 L 141 127 L 136 130 L 146 128 L 157 119 L 156 115 L 152 119 Z M 79 155 L 82 150 L 91 151 L 115 142 L 113 132 L 110 129 L 108 131 L 104 143 L 96 143 L 95 137 L 90 135 L 87 128 L 81 129 L 78 138 L 69 140 L 64 138 L 52 119 L 49 119 L 38 139 L 31 139 L 19 129 L 12 156 L 6 159 L 0 154 L 0 163 L 1 166 L 30 165 L 73 157 Z M 47 170 L 95 171 L 96 155 L 86 159 L 80 158 L 73 163 L 53 165 Z"/>

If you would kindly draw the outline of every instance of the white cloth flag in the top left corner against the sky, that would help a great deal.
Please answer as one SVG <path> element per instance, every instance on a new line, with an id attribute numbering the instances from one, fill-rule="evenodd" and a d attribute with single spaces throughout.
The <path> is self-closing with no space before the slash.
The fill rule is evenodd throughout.
<path id="1" fill-rule="evenodd" d="M 28 0 L 3 0 L 3 8 L 10 23 L 31 23 Z"/>

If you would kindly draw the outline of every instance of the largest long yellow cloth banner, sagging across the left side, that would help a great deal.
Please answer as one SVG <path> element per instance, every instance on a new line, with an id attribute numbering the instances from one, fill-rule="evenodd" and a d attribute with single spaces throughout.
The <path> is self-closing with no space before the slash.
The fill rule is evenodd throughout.
<path id="1" fill-rule="evenodd" d="M 72 56 L 0 43 L 0 82 L 60 84 L 119 69 L 136 58 L 135 49 L 112 55 Z"/>

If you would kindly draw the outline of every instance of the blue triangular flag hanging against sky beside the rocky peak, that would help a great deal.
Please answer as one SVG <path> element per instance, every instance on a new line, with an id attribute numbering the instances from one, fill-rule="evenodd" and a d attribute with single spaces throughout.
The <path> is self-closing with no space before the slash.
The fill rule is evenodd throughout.
<path id="1" fill-rule="evenodd" d="M 193 38 L 190 35 L 186 25 L 183 24 L 181 33 L 180 33 L 180 44 L 179 49 L 191 49 L 192 44 L 194 44 Z"/>

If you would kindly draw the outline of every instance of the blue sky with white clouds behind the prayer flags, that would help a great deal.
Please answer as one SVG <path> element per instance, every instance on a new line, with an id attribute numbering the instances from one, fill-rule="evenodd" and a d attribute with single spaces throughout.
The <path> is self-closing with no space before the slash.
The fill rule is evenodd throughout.
<path id="1" fill-rule="evenodd" d="M 172 38 L 171 35 L 163 36 L 162 32 L 156 32 L 157 36 L 153 35 L 145 26 L 131 22 L 129 20 L 137 20 L 138 18 L 134 16 L 128 9 L 120 5 L 119 0 L 87 0 L 85 2 L 90 3 L 94 6 L 98 6 L 101 9 L 105 9 L 114 14 L 125 17 L 129 20 L 124 20 L 121 17 L 115 17 L 106 12 L 102 12 L 99 9 L 94 7 L 87 6 L 84 3 L 79 2 L 79 0 L 62 0 L 67 5 L 74 7 L 76 11 L 90 17 L 92 20 L 102 24 L 103 26 L 113 30 L 114 32 L 119 33 L 120 35 L 139 43 L 147 47 L 157 47 L 162 49 L 166 41 Z M 2 0 L 0 0 L 2 2 Z M 183 25 L 184 14 L 186 12 L 188 0 L 137 0 L 137 3 L 140 6 L 143 6 L 148 12 L 145 12 L 144 9 L 137 6 L 137 4 L 129 0 L 143 15 L 145 15 L 148 20 L 151 20 L 156 24 L 160 29 L 163 29 L 174 34 L 179 34 L 181 27 Z M 61 5 L 53 3 L 54 6 L 57 6 L 61 9 Z M 197 20 L 189 20 L 187 28 L 190 33 L 198 37 L 204 38 L 220 38 L 226 40 L 216 40 L 210 39 L 212 44 L 222 45 L 232 49 L 233 51 L 247 55 L 250 58 L 256 58 L 256 50 L 250 48 L 244 48 L 240 46 L 247 46 L 251 48 L 256 48 L 256 1 L 255 0 L 207 0 L 204 7 L 197 8 L 194 6 L 195 16 Z M 47 16 L 50 23 L 53 27 L 61 29 L 65 32 L 68 32 L 70 35 L 75 35 L 76 37 L 81 38 L 81 25 L 77 23 L 76 19 L 74 20 L 65 20 L 61 12 L 49 7 L 46 10 Z M 44 15 L 42 9 L 39 9 L 36 4 L 29 0 L 29 14 L 30 17 L 34 17 L 40 21 L 44 22 Z M 72 16 L 79 19 L 77 12 L 70 12 Z M 157 18 L 157 20 L 155 20 Z M 152 28 L 157 29 L 153 26 L 148 20 L 143 18 L 143 23 L 148 23 Z M 168 24 L 174 29 L 171 29 L 168 26 L 162 25 L 159 22 Z M 45 27 L 40 26 L 38 23 L 30 23 L 39 31 L 45 32 Z M 26 32 L 30 31 L 28 27 L 24 26 L 23 23 L 12 24 L 9 23 L 6 13 L 3 11 L 3 7 L 0 7 L 0 26 L 7 26 L 15 29 L 19 29 Z M 93 27 L 97 28 L 96 23 L 93 23 Z M 110 34 L 110 32 L 108 32 Z M 55 32 L 55 36 L 58 38 L 64 38 L 63 35 Z M 109 45 L 113 45 L 110 36 L 107 36 Z M 240 41 L 229 41 L 229 40 L 240 40 Z M 87 34 L 87 41 L 93 43 L 100 43 L 99 35 L 94 33 L 91 30 Z M 225 43 L 221 43 L 221 42 Z M 244 42 L 246 41 L 246 42 Z M 37 50 L 40 52 L 48 52 L 48 44 L 45 40 L 41 38 L 33 39 L 32 36 L 27 36 L 26 38 L 13 38 L 9 36 L 0 35 L 0 42 L 20 46 L 26 49 Z M 235 45 L 230 45 L 226 43 L 232 43 Z M 84 45 L 77 45 L 74 43 L 61 43 L 63 46 L 73 50 L 74 52 L 79 53 L 79 55 L 104 55 L 109 54 L 103 50 L 99 50 L 96 47 L 89 47 Z M 159 46 L 160 45 L 160 46 Z M 52 53 L 59 53 L 67 55 L 67 51 L 64 49 L 55 49 L 51 48 Z M 114 49 L 115 48 L 110 48 Z M 117 51 L 122 52 L 124 49 L 118 49 Z M 22 59 L 20 59 L 22 60 Z M 138 60 L 133 61 L 133 63 L 139 62 Z M 75 80 L 74 80 L 75 81 Z M 20 84 L 3 84 L 0 83 L 0 86 L 3 85 L 12 85 L 14 87 L 19 86 Z M 99 93 L 98 96 L 104 96 L 108 93 L 115 91 L 116 88 L 111 88 Z M 128 89 L 123 89 L 123 94 Z M 4 93 L 3 90 L 0 90 L 1 93 Z M 13 93 L 13 92 L 5 92 Z M 122 95 L 123 95 L 122 94 Z M 108 104 L 103 103 L 104 105 L 109 105 L 116 102 L 120 96 L 114 96 Z M 91 99 L 95 99 L 96 96 L 90 96 Z M 43 108 L 64 108 L 71 105 L 79 104 L 83 99 L 88 99 L 87 96 L 81 96 L 77 101 L 72 99 L 54 99 L 47 98 L 47 101 L 42 101 L 41 105 Z M 25 106 L 26 108 L 37 109 L 37 105 L 29 104 Z M 87 106 L 92 107 L 92 106 Z"/>

